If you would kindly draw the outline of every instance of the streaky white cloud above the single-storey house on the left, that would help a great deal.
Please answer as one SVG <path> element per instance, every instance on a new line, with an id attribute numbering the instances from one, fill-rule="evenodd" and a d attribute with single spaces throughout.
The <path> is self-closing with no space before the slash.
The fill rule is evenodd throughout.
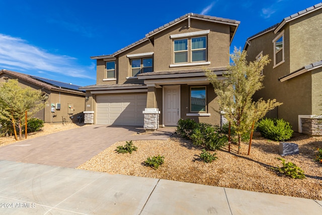
<path id="1" fill-rule="evenodd" d="M 93 71 L 93 65 L 81 66 L 76 60 L 49 53 L 21 38 L 0 34 L 0 68 L 94 79 L 87 75 L 88 71 Z"/>

